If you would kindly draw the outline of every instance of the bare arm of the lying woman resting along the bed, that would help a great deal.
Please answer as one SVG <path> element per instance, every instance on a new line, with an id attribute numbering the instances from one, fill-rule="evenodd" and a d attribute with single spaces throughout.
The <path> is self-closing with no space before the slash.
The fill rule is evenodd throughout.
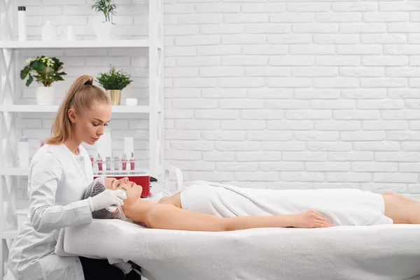
<path id="1" fill-rule="evenodd" d="M 220 218 L 175 207 L 156 204 L 148 211 L 148 228 L 221 232 L 248 228 L 325 228 L 331 224 L 315 211 L 295 215 L 242 216 Z"/>

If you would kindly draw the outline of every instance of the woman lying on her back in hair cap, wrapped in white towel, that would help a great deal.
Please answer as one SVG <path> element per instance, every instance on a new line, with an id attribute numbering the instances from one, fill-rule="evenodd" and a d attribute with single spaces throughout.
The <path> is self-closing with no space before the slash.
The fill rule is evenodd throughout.
<path id="1" fill-rule="evenodd" d="M 327 228 L 334 225 L 420 224 L 420 201 L 396 193 L 358 189 L 269 190 L 196 181 L 159 202 L 143 200 L 142 188 L 127 178 L 95 179 L 85 192 L 127 190 L 114 212 L 93 218 L 118 218 L 147 228 L 230 231 L 248 228 Z"/>

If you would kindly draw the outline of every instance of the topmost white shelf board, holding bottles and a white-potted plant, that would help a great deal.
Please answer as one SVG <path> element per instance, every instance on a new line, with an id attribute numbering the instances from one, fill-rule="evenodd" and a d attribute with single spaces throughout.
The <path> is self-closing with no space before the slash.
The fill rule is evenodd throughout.
<path id="1" fill-rule="evenodd" d="M 148 48 L 148 40 L 115 41 L 0 41 L 0 48 L 23 49 L 67 49 L 67 48 Z"/>

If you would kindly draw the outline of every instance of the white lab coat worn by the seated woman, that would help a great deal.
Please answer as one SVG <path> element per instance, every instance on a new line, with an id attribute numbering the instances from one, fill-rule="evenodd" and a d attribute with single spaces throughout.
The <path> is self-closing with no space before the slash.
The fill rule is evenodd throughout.
<path id="1" fill-rule="evenodd" d="M 84 280 L 78 257 L 55 255 L 59 230 L 90 223 L 92 166 L 83 146 L 74 155 L 64 144 L 44 145 L 31 160 L 28 220 L 10 248 L 8 269 L 17 280 Z"/>

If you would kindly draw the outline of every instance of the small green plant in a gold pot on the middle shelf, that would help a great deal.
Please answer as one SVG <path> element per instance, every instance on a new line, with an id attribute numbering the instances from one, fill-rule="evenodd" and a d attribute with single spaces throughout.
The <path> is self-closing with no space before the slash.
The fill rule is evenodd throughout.
<path id="1" fill-rule="evenodd" d="M 121 90 L 132 83 L 131 75 L 122 70 L 117 71 L 112 65 L 110 68 L 106 73 L 99 73 L 97 81 L 106 90 L 106 94 L 111 98 L 112 104 L 120 105 Z"/>

